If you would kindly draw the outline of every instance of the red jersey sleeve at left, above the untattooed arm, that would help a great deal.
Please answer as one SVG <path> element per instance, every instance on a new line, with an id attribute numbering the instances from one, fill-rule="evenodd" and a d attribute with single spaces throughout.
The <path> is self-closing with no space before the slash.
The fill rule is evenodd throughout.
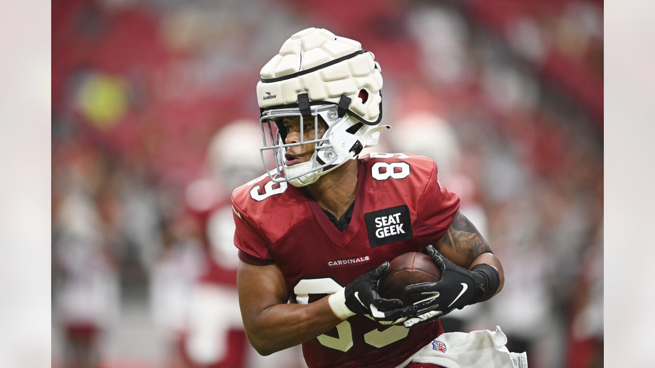
<path id="1" fill-rule="evenodd" d="M 234 246 L 239 249 L 239 259 L 252 265 L 263 266 L 274 263 L 267 240 L 255 230 L 256 224 L 232 202 L 234 225 Z"/>

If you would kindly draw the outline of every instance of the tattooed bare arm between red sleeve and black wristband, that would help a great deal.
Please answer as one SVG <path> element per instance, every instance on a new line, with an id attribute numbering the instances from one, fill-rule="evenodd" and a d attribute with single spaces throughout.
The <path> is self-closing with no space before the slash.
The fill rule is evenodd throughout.
<path id="1" fill-rule="evenodd" d="M 495 294 L 502 290 L 505 277 L 498 257 L 493 254 L 489 244 L 476 227 L 461 212 L 455 213 L 453 224 L 437 242 L 435 248 L 455 265 L 468 270 L 481 264 L 496 268 L 500 276 L 500 285 Z"/>

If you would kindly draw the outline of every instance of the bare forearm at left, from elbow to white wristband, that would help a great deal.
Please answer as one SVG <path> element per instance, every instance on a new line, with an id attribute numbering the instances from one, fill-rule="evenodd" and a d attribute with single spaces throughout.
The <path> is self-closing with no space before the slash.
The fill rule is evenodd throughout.
<path id="1" fill-rule="evenodd" d="M 314 339 L 341 322 L 325 297 L 309 304 L 269 306 L 246 323 L 246 334 L 255 350 L 266 356 Z"/>

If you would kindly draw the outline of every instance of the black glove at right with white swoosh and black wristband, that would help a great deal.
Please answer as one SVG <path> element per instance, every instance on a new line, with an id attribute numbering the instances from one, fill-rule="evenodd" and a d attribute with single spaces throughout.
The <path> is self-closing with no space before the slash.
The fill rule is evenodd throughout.
<path id="1" fill-rule="evenodd" d="M 408 285 L 405 294 L 410 296 L 423 295 L 424 299 L 414 303 L 413 316 L 408 318 L 405 327 L 416 323 L 432 322 L 449 314 L 453 309 L 486 301 L 491 298 L 498 285 L 500 276 L 498 270 L 489 265 L 476 265 L 472 270 L 459 267 L 451 262 L 433 246 L 427 246 L 423 253 L 430 256 L 441 271 L 438 282 L 423 282 Z"/>

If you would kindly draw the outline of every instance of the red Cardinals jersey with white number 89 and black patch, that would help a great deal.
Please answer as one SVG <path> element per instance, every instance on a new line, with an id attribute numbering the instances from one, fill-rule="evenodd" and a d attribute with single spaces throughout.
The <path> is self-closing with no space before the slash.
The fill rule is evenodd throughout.
<path id="1" fill-rule="evenodd" d="M 371 153 L 358 160 L 350 224 L 340 232 L 301 188 L 259 177 L 233 193 L 239 258 L 276 263 L 291 303 L 335 293 L 384 261 L 435 244 L 459 208 L 430 158 Z M 443 333 L 440 322 L 407 329 L 352 316 L 303 344 L 309 367 L 396 367 Z"/>

